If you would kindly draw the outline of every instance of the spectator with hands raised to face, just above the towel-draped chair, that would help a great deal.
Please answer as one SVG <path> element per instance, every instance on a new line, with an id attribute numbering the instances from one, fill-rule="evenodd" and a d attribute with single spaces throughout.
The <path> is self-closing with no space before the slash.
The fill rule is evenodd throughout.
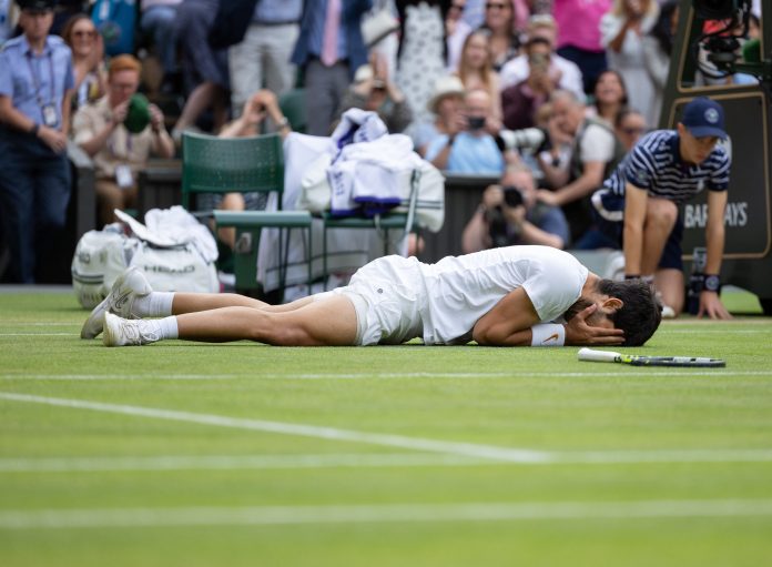
<path id="1" fill-rule="evenodd" d="M 410 107 L 388 75 L 386 57 L 374 52 L 369 59 L 369 64 L 357 69 L 354 84 L 344 94 L 337 113 L 348 109 L 370 110 L 378 113 L 389 132 L 403 132 L 413 120 Z"/>

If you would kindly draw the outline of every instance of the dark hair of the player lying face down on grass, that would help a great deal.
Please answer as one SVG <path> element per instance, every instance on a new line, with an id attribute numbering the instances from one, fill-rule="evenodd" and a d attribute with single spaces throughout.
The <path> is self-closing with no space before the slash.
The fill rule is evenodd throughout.
<path id="1" fill-rule="evenodd" d="M 622 346 L 641 346 L 654 334 L 662 321 L 662 305 L 653 286 L 642 280 L 601 280 L 598 291 L 622 301 L 621 308 L 611 315 L 613 326 L 624 331 Z"/>

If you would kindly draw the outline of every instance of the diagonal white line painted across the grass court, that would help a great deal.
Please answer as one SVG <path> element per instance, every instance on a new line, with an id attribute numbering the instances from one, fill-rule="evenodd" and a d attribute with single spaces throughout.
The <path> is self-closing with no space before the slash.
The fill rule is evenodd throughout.
<path id="1" fill-rule="evenodd" d="M 59 397 L 33 396 L 28 394 L 14 394 L 0 392 L 0 399 L 45 404 L 75 409 L 92 409 L 112 414 L 151 417 L 172 422 L 195 423 L 200 425 L 213 425 L 216 427 L 230 427 L 235 429 L 278 433 L 283 435 L 297 435 L 321 439 L 345 441 L 352 443 L 365 443 L 386 447 L 400 447 L 404 449 L 426 450 L 429 453 L 444 453 L 477 458 L 490 458 L 494 460 L 509 460 L 515 463 L 545 460 L 547 455 L 541 450 L 496 447 L 492 445 L 479 445 L 474 443 L 456 443 L 449 441 L 427 439 L 421 437 L 406 437 L 403 435 L 389 435 L 382 433 L 366 433 L 337 427 L 324 427 L 318 425 L 294 424 L 283 422 L 268 422 L 264 419 L 248 419 L 240 417 L 226 417 L 212 414 L 196 414 L 179 412 L 174 409 L 161 409 L 154 407 L 130 406 L 122 404 L 106 404 L 89 402 L 85 399 L 70 399 Z"/>

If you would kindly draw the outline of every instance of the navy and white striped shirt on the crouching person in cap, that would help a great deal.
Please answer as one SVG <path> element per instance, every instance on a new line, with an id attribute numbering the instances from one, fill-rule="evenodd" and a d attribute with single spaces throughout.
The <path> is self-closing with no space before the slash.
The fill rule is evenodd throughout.
<path id="1" fill-rule="evenodd" d="M 636 144 L 603 188 L 623 198 L 624 185 L 631 183 L 648 190 L 650 196 L 681 204 L 704 189 L 727 191 L 730 165 L 731 158 L 722 144 L 717 144 L 702 163 L 685 163 L 679 153 L 678 131 L 656 130 Z"/>

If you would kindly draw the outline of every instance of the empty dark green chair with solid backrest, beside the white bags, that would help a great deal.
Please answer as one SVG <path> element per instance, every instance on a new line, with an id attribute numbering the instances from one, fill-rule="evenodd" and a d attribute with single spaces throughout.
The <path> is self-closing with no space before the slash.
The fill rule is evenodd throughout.
<path id="1" fill-rule="evenodd" d="M 263 229 L 278 229 L 280 292 L 283 294 L 290 237 L 285 231 L 304 229 L 311 239 L 307 211 L 282 211 L 284 151 L 278 134 L 250 138 L 216 138 L 184 132 L 182 138 L 182 204 L 195 211 L 200 193 L 275 193 L 277 211 L 204 211 L 220 227 L 236 229 L 234 273 L 236 288 L 260 290 L 256 282 L 257 250 Z M 311 282 L 311 262 L 308 282 Z"/>

